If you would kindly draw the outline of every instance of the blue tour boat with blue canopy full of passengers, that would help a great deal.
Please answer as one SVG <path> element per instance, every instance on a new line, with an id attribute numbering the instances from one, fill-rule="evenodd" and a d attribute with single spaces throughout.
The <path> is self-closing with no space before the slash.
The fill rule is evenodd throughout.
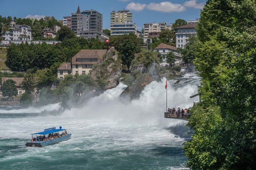
<path id="1" fill-rule="evenodd" d="M 55 144 L 55 143 L 70 139 L 72 134 L 68 134 L 66 129 L 61 129 L 61 128 L 62 128 L 61 126 L 59 127 L 59 129 L 52 127 L 49 129 L 44 129 L 43 132 L 32 133 L 31 134 L 32 140 L 29 142 L 26 142 L 26 146 L 27 147 L 44 147 L 47 145 Z M 61 134 L 59 132 L 61 132 Z M 44 141 L 34 140 L 37 138 L 33 138 L 33 135 L 36 135 L 37 138 L 41 136 L 40 140 L 43 140 L 44 138 L 45 140 Z"/>

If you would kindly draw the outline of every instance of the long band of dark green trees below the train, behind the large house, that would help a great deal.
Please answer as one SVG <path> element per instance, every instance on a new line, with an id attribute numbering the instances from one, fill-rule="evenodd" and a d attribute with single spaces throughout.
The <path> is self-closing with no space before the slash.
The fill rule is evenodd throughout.
<path id="1" fill-rule="evenodd" d="M 10 45 L 7 49 L 6 65 L 12 71 L 50 68 L 55 63 L 71 62 L 81 49 L 107 49 L 108 44 L 99 40 L 85 40 L 81 37 L 65 39 L 55 45 L 32 44 Z M 55 65 L 55 70 L 57 66 Z"/>

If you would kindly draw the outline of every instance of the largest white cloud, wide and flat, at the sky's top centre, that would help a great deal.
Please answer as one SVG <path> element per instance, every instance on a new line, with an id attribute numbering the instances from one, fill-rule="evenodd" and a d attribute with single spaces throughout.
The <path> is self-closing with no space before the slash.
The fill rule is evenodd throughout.
<path id="1" fill-rule="evenodd" d="M 147 9 L 160 12 L 182 12 L 186 10 L 181 4 L 171 2 L 150 3 Z"/>

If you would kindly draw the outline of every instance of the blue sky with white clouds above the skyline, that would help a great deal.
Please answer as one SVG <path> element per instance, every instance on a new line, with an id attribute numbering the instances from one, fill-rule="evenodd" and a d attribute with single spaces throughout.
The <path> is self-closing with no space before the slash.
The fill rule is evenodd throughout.
<path id="1" fill-rule="evenodd" d="M 133 22 L 138 30 L 144 23 L 174 23 L 176 19 L 195 20 L 200 17 L 200 9 L 205 0 L 0 0 L 0 15 L 24 18 L 28 15 L 54 16 L 62 20 L 64 16 L 80 10 L 96 10 L 103 14 L 103 28 L 110 28 L 110 12 L 122 9 L 133 12 Z"/>

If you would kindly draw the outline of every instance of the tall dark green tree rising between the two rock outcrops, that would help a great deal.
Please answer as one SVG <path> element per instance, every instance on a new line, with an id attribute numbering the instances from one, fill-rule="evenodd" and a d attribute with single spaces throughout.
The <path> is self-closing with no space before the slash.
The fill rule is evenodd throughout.
<path id="1" fill-rule="evenodd" d="M 122 45 L 122 50 L 120 52 L 122 64 L 127 65 L 127 68 L 130 68 L 131 61 L 134 59 L 134 54 L 136 50 L 136 44 L 132 40 L 125 40 Z"/>

